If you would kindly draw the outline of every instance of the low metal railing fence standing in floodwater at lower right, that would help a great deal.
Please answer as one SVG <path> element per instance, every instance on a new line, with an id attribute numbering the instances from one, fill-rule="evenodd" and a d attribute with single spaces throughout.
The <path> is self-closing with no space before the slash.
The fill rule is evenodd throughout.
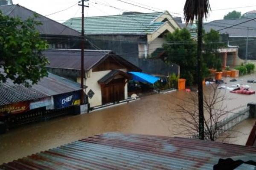
<path id="1" fill-rule="evenodd" d="M 216 128 L 215 138 L 220 137 L 225 132 L 230 131 L 233 127 L 241 123 L 242 121 L 249 118 L 249 110 L 250 108 L 247 107 L 245 109 L 242 109 L 236 113 L 233 113 L 232 116 L 229 116 L 220 122 L 217 122 L 217 124 L 212 125 L 212 131 Z M 195 133 L 193 136 L 190 136 L 190 139 L 199 139 L 198 133 Z M 207 135 L 207 132 L 205 131 L 204 139 L 210 140 L 209 135 Z"/>

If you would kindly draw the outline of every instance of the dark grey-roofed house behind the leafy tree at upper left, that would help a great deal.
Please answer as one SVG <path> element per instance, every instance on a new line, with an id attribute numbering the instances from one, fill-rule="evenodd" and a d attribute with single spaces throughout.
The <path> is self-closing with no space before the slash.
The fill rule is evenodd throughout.
<path id="1" fill-rule="evenodd" d="M 3 2 L 5 1 L 5 2 Z M 73 30 L 61 23 L 44 17 L 28 8 L 20 5 L 14 5 L 9 0 L 1 0 L 0 11 L 9 17 L 20 17 L 21 20 L 35 18 L 35 21 L 40 21 L 42 25 L 36 26 L 36 29 L 41 34 L 44 40 L 47 40 L 50 48 L 80 48 L 81 35 L 78 31 Z"/>

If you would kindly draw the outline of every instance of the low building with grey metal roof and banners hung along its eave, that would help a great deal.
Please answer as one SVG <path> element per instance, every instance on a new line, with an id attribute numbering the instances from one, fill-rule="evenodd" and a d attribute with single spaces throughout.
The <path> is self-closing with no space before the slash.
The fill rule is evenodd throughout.
<path id="1" fill-rule="evenodd" d="M 0 73 L 4 74 L 1 68 Z M 30 88 L 14 84 L 11 79 L 7 79 L 0 84 L 0 93 L 0 116 L 24 113 L 43 107 L 47 110 L 66 108 L 79 105 L 81 99 L 79 83 L 51 73 Z M 70 96 L 71 99 L 66 101 L 65 99 Z"/>

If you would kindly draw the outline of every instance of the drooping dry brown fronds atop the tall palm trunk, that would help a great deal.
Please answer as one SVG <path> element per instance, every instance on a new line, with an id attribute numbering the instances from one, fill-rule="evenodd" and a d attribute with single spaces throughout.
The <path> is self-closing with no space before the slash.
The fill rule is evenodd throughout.
<path id="1" fill-rule="evenodd" d="M 184 21 L 193 23 L 199 17 L 206 18 L 211 10 L 209 0 L 186 0 L 184 6 Z"/>

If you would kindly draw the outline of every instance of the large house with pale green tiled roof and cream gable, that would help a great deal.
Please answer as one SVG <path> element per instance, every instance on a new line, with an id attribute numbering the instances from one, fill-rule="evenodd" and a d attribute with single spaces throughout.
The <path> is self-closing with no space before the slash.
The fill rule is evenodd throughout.
<path id="1" fill-rule="evenodd" d="M 85 17 L 84 22 L 86 39 L 98 49 L 111 50 L 143 71 L 148 71 L 146 73 L 168 75 L 171 72 L 160 59 L 147 60 L 153 67 L 148 67 L 143 62 L 157 53 L 158 48 L 162 48 L 166 42 L 164 34 L 180 29 L 168 11 Z M 71 18 L 63 24 L 81 32 L 80 17 Z"/>

